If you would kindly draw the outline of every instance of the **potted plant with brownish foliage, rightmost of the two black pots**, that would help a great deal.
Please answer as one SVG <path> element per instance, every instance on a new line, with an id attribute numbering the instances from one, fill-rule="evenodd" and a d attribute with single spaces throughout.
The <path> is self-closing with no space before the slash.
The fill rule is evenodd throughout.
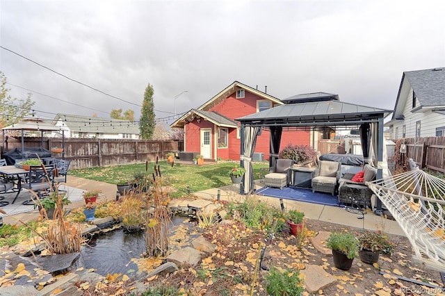
<path id="1" fill-rule="evenodd" d="M 391 255 L 394 243 L 382 231 L 364 231 L 359 237 L 359 257 L 364 263 L 373 264 L 380 254 Z"/>

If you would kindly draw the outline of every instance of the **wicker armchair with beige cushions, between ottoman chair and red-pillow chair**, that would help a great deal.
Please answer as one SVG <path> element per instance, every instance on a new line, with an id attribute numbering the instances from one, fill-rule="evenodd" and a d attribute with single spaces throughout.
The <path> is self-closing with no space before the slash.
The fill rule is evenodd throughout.
<path id="1" fill-rule="evenodd" d="M 340 168 L 341 163 L 337 161 L 320 161 L 312 178 L 312 192 L 328 192 L 335 195 Z"/>

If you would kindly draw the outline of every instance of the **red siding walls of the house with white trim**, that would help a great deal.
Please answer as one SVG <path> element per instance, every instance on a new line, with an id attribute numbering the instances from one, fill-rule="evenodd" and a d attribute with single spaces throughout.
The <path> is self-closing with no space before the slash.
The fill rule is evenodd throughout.
<path id="1" fill-rule="evenodd" d="M 258 97 L 256 94 L 252 94 L 245 90 L 245 97 L 242 99 L 236 99 L 236 92 L 227 97 L 225 100 L 213 106 L 209 111 L 215 111 L 226 117 L 234 120 L 245 115 L 249 115 L 257 112 L 257 100 L 263 100 L 263 98 Z M 238 124 L 239 126 L 239 124 Z M 186 151 L 199 152 L 200 151 L 200 129 L 209 127 L 212 129 L 211 132 L 211 153 L 212 158 L 221 159 L 232 159 L 239 160 L 240 149 L 241 149 L 241 139 L 236 138 L 236 129 L 229 129 L 229 147 L 228 148 L 218 148 L 218 155 L 214 155 L 214 137 L 213 137 L 213 124 L 207 122 L 206 120 L 201 120 L 197 123 L 196 120 L 186 124 Z M 264 159 L 269 159 L 269 131 L 262 131 L 261 135 L 257 137 L 257 145 L 255 147 L 255 152 L 264 153 Z M 310 145 L 310 133 L 305 129 L 300 129 L 298 131 L 283 131 L 282 140 L 280 145 L 280 150 L 288 145 L 289 143 L 293 145 Z"/>

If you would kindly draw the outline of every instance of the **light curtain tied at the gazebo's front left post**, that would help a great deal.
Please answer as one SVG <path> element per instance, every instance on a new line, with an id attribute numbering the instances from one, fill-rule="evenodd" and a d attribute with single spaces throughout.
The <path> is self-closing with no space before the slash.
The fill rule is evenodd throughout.
<path id="1" fill-rule="evenodd" d="M 259 126 L 245 126 L 244 128 L 244 154 L 243 167 L 245 168 L 243 191 L 247 194 L 254 189 L 252 156 L 257 144 L 257 134 L 261 128 Z"/>

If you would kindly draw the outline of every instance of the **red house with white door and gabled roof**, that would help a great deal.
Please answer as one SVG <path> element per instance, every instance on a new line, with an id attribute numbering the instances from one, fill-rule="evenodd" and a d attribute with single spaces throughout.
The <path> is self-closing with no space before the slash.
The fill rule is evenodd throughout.
<path id="1" fill-rule="evenodd" d="M 282 105 L 280 99 L 248 85 L 234 81 L 202 106 L 188 111 L 170 126 L 184 129 L 184 151 L 197 152 L 207 159 L 239 160 L 240 124 L 235 118 Z M 281 147 L 311 145 L 311 130 L 291 127 L 282 133 Z M 269 131 L 257 137 L 256 153 L 269 159 Z"/>

